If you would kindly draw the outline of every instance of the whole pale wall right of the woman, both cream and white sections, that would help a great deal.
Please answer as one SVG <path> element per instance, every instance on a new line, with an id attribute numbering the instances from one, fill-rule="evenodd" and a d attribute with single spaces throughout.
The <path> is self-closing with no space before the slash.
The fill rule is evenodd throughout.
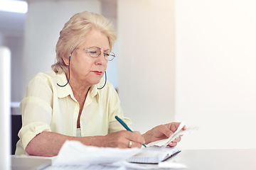
<path id="1" fill-rule="evenodd" d="M 119 96 L 132 128 L 175 118 L 199 127 L 181 149 L 255 148 L 256 2 L 118 2 Z"/>

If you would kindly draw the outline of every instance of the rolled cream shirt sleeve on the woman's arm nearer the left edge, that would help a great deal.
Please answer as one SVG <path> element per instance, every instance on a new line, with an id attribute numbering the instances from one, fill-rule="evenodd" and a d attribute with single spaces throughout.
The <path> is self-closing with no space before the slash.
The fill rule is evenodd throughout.
<path id="1" fill-rule="evenodd" d="M 43 89 L 43 92 L 42 92 Z M 52 91 L 43 79 L 33 79 L 28 85 L 28 91 L 21 101 L 22 127 L 18 132 L 20 140 L 17 143 L 16 154 L 26 154 L 28 143 L 43 131 L 50 132 L 52 120 Z"/>

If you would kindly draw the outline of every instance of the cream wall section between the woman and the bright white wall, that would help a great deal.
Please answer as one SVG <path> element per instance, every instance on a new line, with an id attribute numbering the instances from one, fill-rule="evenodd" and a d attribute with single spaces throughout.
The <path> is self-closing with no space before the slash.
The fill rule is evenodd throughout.
<path id="1" fill-rule="evenodd" d="M 118 1 L 119 97 L 134 130 L 174 120 L 174 1 Z"/>

